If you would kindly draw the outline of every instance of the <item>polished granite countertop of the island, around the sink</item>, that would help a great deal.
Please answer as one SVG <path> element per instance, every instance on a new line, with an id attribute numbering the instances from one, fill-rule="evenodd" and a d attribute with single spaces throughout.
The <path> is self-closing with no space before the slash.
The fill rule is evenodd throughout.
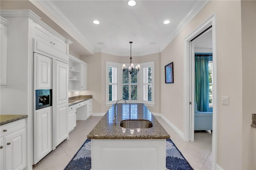
<path id="1" fill-rule="evenodd" d="M 117 125 L 113 125 L 114 104 L 102 117 L 99 123 L 88 134 L 88 139 L 169 139 L 170 135 L 165 131 L 162 125 L 156 120 L 149 109 L 142 103 L 118 103 Z M 124 119 L 146 119 L 153 123 L 153 127 L 133 129 L 134 132 L 120 127 L 120 121 Z"/>

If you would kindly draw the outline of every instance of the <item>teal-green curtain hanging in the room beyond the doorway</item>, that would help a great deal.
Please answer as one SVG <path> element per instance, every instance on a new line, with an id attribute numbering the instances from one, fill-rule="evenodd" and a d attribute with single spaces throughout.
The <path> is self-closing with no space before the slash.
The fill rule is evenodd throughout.
<path id="1" fill-rule="evenodd" d="M 209 109 L 208 57 L 195 57 L 195 102 L 198 111 Z"/>

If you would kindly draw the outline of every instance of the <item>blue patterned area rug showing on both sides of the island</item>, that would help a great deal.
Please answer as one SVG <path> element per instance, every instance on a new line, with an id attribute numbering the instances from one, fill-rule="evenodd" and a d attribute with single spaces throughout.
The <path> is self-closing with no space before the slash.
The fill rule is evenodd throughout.
<path id="1" fill-rule="evenodd" d="M 91 169 L 91 140 L 86 139 L 82 147 L 76 152 L 64 170 L 90 170 Z M 193 170 L 180 150 L 171 139 L 166 139 L 166 169 L 167 170 Z"/>

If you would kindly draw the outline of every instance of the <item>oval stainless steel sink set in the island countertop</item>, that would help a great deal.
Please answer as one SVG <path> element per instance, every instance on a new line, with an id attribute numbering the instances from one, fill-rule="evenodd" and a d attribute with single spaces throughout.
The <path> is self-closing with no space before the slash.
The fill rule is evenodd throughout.
<path id="1" fill-rule="evenodd" d="M 144 129 L 153 127 L 153 123 L 148 120 L 122 120 L 120 126 L 129 129 Z"/>

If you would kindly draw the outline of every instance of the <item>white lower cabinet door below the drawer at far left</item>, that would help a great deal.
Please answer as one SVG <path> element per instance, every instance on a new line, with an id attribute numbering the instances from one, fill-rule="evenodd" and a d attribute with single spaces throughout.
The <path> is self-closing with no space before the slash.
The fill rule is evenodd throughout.
<path id="1" fill-rule="evenodd" d="M 6 135 L 4 138 L 5 169 L 24 169 L 26 167 L 26 128 Z"/>

